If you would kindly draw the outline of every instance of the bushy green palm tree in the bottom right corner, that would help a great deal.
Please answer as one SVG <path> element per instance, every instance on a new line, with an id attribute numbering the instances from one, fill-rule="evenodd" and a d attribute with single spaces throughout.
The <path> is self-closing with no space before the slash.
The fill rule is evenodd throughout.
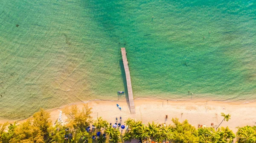
<path id="1" fill-rule="evenodd" d="M 236 135 L 238 143 L 256 143 L 256 131 L 251 126 L 238 128 Z"/>

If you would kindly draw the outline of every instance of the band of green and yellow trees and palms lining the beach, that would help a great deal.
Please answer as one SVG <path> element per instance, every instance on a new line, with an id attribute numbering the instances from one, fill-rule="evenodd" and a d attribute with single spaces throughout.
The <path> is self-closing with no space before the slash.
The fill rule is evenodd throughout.
<path id="1" fill-rule="evenodd" d="M 169 125 L 155 122 L 145 125 L 129 118 L 122 135 L 119 127 L 113 128 L 102 117 L 93 122 L 88 106 L 79 109 L 72 105 L 64 113 L 68 118 L 65 124 L 56 120 L 52 125 L 49 113 L 43 109 L 23 123 L 0 124 L 0 143 L 119 143 L 133 139 L 143 143 L 232 143 L 235 137 L 237 143 L 256 143 L 255 126 L 238 127 L 234 134 L 229 127 L 196 129 L 187 120 L 180 122 L 178 118 L 173 118 L 173 124 Z M 229 120 L 230 115 L 224 115 L 224 118 Z M 92 124 L 101 134 L 88 130 Z"/>

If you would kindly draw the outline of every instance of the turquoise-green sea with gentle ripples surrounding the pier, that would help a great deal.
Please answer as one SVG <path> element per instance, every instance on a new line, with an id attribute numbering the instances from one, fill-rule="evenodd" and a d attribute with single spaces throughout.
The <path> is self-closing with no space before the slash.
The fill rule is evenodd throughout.
<path id="1" fill-rule="evenodd" d="M 256 0 L 1 0 L 0 117 L 118 100 L 121 47 L 135 98 L 256 99 Z"/>

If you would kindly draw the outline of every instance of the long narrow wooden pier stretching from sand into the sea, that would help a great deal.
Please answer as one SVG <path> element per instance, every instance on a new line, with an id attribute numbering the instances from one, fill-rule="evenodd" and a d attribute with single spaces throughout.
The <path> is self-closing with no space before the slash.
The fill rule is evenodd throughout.
<path id="1" fill-rule="evenodd" d="M 126 58 L 125 48 L 121 48 L 121 52 L 122 52 L 122 59 L 123 59 L 124 68 L 125 68 L 125 77 L 126 77 L 126 83 L 127 83 L 127 89 L 128 89 L 130 110 L 131 110 L 131 114 L 135 114 L 134 99 L 133 99 L 133 93 L 131 88 L 131 76 L 130 76 L 130 71 L 128 67 L 128 61 Z"/>

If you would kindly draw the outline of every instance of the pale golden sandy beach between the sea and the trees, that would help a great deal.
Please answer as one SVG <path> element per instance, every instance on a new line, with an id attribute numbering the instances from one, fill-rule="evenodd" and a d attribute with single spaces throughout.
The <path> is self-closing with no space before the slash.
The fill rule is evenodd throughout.
<path id="1" fill-rule="evenodd" d="M 256 114 L 254 114 L 256 112 L 256 103 L 226 103 L 206 100 L 167 101 L 151 98 L 135 99 L 134 102 L 136 114 L 130 114 L 126 101 L 93 100 L 87 103 L 79 102 L 73 104 L 78 105 L 79 108 L 82 108 L 84 104 L 88 104 L 92 107 L 93 119 L 103 117 L 109 123 L 116 123 L 115 118 L 122 116 L 122 123 L 130 117 L 135 120 L 142 120 L 143 123 L 154 121 L 155 123 L 172 124 L 172 118 L 177 117 L 180 121 L 187 119 L 190 124 L 197 128 L 198 124 L 210 126 L 213 123 L 218 125 L 223 119 L 221 112 L 224 112 L 225 114 L 230 113 L 231 119 L 228 122 L 224 121 L 221 126 L 229 126 L 234 132 L 237 131 L 237 126 L 256 125 Z M 122 110 L 116 107 L 116 103 L 122 107 Z M 53 122 L 58 118 L 60 110 L 64 108 L 65 106 L 47 110 L 50 112 Z M 165 115 L 168 115 L 167 120 Z M 67 117 L 63 114 L 62 119 L 65 121 Z"/>

